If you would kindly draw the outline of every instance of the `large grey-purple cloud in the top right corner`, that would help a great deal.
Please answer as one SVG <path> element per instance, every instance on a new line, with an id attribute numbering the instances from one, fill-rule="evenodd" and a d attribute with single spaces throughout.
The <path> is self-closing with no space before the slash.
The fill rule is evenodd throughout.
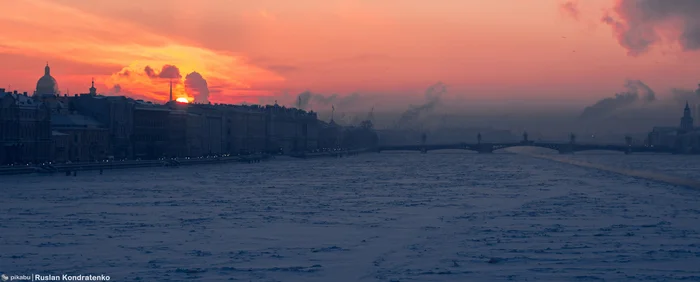
<path id="1" fill-rule="evenodd" d="M 607 13 L 602 21 L 630 56 L 664 40 L 678 43 L 683 51 L 700 50 L 700 1 L 616 0 L 613 11 L 615 16 Z"/>

